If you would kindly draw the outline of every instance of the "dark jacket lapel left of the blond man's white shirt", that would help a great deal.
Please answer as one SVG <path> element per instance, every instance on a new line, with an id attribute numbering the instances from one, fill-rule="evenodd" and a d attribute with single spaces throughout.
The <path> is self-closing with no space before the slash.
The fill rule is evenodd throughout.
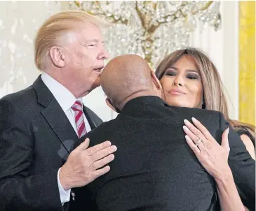
<path id="1" fill-rule="evenodd" d="M 56 101 L 53 94 L 41 80 L 41 75 L 34 82 L 33 87 L 37 94 L 38 103 L 44 107 L 41 110 L 41 114 L 46 119 L 50 128 L 53 129 L 62 146 L 69 153 L 72 149 L 72 144 L 79 140 L 69 119 L 67 119 L 58 101 Z"/>

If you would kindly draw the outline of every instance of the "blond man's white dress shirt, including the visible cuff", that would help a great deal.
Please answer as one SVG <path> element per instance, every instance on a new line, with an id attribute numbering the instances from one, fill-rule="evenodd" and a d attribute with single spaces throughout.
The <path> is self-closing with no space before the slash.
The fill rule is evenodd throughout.
<path id="1" fill-rule="evenodd" d="M 67 118 L 69 119 L 70 124 L 72 124 L 74 131 L 76 131 L 76 135 L 78 136 L 77 129 L 76 129 L 76 122 L 75 122 L 75 113 L 71 107 L 73 106 L 74 102 L 77 100 L 83 103 L 82 98 L 76 99 L 75 96 L 71 92 L 69 92 L 67 88 L 62 86 L 58 81 L 51 78 L 50 75 L 48 75 L 47 73 L 42 73 L 41 79 L 43 80 L 43 83 L 46 85 L 46 87 L 48 87 L 50 92 L 53 94 L 55 99 L 58 101 L 58 103 L 60 104 L 60 107 L 65 112 L 65 115 L 67 115 Z M 84 114 L 83 114 L 83 118 L 86 124 L 86 131 L 89 132 L 91 130 L 90 124 Z M 62 185 L 60 184 L 60 180 L 59 180 L 59 173 L 60 173 L 60 169 L 58 170 L 58 175 L 57 175 L 58 187 L 60 192 L 60 201 L 61 203 L 65 203 L 69 201 L 71 189 L 65 191 L 62 188 Z"/>

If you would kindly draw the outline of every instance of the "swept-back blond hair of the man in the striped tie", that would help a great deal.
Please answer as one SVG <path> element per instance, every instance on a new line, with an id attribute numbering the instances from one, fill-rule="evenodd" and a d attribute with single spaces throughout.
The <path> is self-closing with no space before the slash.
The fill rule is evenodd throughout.
<path id="1" fill-rule="evenodd" d="M 63 34 L 74 29 L 75 23 L 91 23 L 99 28 L 107 26 L 107 22 L 81 10 L 69 10 L 49 17 L 34 39 L 34 61 L 39 70 L 46 67 L 50 48 L 58 44 Z"/>

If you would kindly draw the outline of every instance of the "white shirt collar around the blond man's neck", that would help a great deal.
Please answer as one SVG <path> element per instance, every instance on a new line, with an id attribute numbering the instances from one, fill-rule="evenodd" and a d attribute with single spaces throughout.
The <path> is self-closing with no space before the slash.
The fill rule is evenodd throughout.
<path id="1" fill-rule="evenodd" d="M 66 87 L 61 85 L 57 80 L 51 78 L 47 73 L 43 72 L 41 74 L 41 79 L 53 94 L 55 99 L 58 101 L 64 112 L 67 112 L 67 110 L 71 108 L 75 101 L 80 101 L 83 104 L 82 98 L 76 99 L 75 96 L 69 92 Z"/>

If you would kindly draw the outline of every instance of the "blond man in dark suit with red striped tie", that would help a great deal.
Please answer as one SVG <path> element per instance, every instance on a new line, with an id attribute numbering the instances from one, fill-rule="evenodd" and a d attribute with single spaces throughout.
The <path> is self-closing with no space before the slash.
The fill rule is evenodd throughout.
<path id="1" fill-rule="evenodd" d="M 1 211 L 79 210 L 72 189 L 109 171 L 105 165 L 116 150 L 109 141 L 87 149 L 86 140 L 69 154 L 76 140 L 102 123 L 82 103 L 100 85 L 107 58 L 99 24 L 82 11 L 46 20 L 35 38 L 43 73 L 0 100 Z"/>

